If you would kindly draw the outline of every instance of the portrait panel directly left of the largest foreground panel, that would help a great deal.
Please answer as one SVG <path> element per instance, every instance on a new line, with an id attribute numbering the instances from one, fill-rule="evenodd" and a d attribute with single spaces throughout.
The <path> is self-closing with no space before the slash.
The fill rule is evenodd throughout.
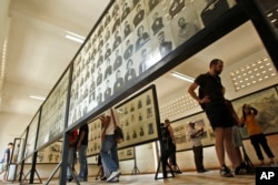
<path id="1" fill-rule="evenodd" d="M 60 79 L 41 109 L 39 135 L 36 148 L 51 142 L 64 130 L 66 106 L 69 89 L 69 70 Z"/>

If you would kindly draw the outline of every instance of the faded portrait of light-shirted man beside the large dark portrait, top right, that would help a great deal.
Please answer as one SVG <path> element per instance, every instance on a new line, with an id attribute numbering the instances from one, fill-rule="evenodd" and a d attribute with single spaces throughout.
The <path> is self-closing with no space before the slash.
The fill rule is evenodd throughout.
<path id="1" fill-rule="evenodd" d="M 178 25 L 179 25 L 178 35 L 181 43 L 183 43 L 186 40 L 195 35 L 196 32 L 200 30 L 196 24 L 187 22 L 185 18 L 179 18 Z"/>

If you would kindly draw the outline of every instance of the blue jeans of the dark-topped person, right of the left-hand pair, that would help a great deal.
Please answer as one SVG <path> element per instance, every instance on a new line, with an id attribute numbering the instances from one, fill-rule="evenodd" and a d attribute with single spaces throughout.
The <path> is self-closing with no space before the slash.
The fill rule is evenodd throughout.
<path id="1" fill-rule="evenodd" d="M 79 154 L 79 178 L 81 179 L 87 179 L 88 178 L 88 165 L 87 165 L 87 145 L 81 145 L 80 148 L 78 150 Z"/>

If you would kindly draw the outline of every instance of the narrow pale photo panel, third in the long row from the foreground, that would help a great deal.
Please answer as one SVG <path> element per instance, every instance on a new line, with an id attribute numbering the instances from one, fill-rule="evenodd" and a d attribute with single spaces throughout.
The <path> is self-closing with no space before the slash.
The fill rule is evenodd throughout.
<path id="1" fill-rule="evenodd" d="M 34 152 L 34 147 L 36 147 L 34 145 L 36 145 L 37 134 L 38 134 L 39 116 L 40 116 L 40 111 L 37 112 L 37 114 L 34 115 L 33 120 L 31 121 L 29 125 L 24 157 L 28 157 L 30 154 Z"/>

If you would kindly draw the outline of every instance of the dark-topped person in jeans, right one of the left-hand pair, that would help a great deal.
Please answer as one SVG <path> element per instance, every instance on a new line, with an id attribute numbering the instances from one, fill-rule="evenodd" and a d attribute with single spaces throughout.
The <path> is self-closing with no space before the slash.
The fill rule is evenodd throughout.
<path id="1" fill-rule="evenodd" d="M 79 165 L 80 165 L 78 179 L 80 182 L 88 181 L 88 166 L 87 166 L 88 135 L 89 135 L 89 127 L 88 124 L 86 123 L 79 129 L 78 143 L 77 143 L 77 150 L 79 154 Z"/>

